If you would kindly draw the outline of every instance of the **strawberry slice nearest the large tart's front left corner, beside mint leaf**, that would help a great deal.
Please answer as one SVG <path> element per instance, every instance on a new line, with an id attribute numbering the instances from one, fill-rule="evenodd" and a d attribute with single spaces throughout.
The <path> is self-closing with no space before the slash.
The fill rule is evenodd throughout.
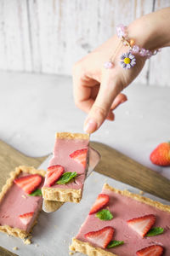
<path id="1" fill-rule="evenodd" d="M 84 236 L 88 239 L 88 241 L 94 243 L 95 245 L 106 248 L 112 240 L 113 234 L 114 229 L 108 226 L 101 230 L 88 232 Z"/>

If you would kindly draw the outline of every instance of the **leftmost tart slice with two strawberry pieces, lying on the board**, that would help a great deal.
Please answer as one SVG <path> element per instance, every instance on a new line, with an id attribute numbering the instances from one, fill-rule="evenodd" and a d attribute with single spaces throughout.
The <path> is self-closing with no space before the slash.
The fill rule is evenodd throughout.
<path id="1" fill-rule="evenodd" d="M 45 171 L 19 166 L 10 172 L 0 193 L 0 231 L 25 239 L 42 209 Z"/>

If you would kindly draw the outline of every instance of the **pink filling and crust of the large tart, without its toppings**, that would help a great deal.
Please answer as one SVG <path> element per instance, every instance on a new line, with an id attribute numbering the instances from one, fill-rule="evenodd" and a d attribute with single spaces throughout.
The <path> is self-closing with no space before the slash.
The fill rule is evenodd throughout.
<path id="1" fill-rule="evenodd" d="M 132 256 L 146 247 L 158 245 L 158 247 L 163 247 L 163 256 L 170 255 L 170 206 L 130 193 L 127 190 L 114 189 L 108 184 L 104 185 L 101 194 L 109 196 L 109 202 L 104 209 L 108 209 L 113 218 L 101 220 L 97 218 L 96 213 L 90 214 L 89 212 L 88 218 L 82 224 L 77 236 L 72 239 L 71 251 L 90 256 Z M 164 229 L 161 235 L 141 237 L 127 224 L 127 220 L 140 218 L 147 214 L 156 216 L 154 226 Z M 108 228 L 108 226 L 114 229 L 112 240 L 123 241 L 122 245 L 104 248 L 89 241 L 87 234 L 88 236 L 89 233 L 94 235 L 95 231 Z"/>

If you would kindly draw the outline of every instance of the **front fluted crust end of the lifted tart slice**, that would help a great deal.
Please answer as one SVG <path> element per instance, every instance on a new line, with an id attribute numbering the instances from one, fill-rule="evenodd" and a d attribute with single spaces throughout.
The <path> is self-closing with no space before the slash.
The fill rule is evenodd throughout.
<path id="1" fill-rule="evenodd" d="M 42 188 L 42 197 L 48 201 L 71 201 L 78 203 L 82 199 L 82 189 Z"/>

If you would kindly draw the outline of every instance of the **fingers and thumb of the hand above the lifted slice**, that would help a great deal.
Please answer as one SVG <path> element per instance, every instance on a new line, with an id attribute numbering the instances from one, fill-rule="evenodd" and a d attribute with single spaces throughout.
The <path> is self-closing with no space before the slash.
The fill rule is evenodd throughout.
<path id="1" fill-rule="evenodd" d="M 87 75 L 80 64 L 73 74 L 75 103 L 78 108 L 88 113 L 84 131 L 92 133 L 99 129 L 105 119 L 114 120 L 115 115 L 112 110 L 127 101 L 124 94 L 119 94 L 122 90 L 122 81 L 119 79 L 116 82 L 117 76 L 111 70 L 104 71 L 100 77 L 95 73 L 92 78 L 92 74 Z M 101 84 L 99 84 L 100 79 L 102 79 Z"/>

